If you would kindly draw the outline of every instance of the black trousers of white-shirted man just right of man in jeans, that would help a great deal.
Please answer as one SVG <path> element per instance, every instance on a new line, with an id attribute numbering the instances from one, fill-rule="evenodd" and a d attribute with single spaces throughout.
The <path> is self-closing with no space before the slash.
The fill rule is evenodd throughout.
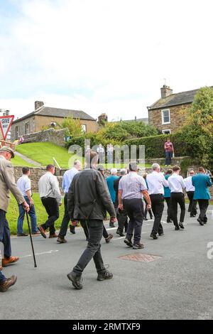
<path id="1" fill-rule="evenodd" d="M 45 207 L 46 212 L 48 213 L 48 220 L 45 224 L 41 225 L 44 230 L 50 228 L 50 235 L 55 234 L 55 220 L 59 218 L 59 207 L 58 201 L 56 198 L 41 198 L 43 206 Z"/>

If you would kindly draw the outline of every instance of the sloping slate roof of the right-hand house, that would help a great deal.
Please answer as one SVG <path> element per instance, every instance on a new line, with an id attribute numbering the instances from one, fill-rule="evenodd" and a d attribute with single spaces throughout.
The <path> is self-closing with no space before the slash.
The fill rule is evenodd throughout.
<path id="1" fill-rule="evenodd" d="M 175 105 L 192 103 L 197 91 L 198 90 L 188 90 L 187 92 L 171 94 L 168 97 L 158 99 L 158 101 L 153 103 L 151 107 L 148 107 L 148 109 L 163 109 L 167 107 L 173 107 Z"/>

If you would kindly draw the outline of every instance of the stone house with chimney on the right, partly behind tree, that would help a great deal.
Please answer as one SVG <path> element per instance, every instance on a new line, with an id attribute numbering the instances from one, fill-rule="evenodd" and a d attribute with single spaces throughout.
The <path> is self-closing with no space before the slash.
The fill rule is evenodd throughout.
<path id="1" fill-rule="evenodd" d="M 173 94 L 170 87 L 163 85 L 161 97 L 148 108 L 148 123 L 163 134 L 171 134 L 182 127 L 189 108 L 198 90 Z"/>

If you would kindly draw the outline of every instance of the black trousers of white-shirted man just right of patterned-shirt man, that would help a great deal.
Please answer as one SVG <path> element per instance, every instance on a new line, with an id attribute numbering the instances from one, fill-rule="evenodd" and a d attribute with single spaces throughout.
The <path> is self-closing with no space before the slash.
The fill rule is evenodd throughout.
<path id="1" fill-rule="evenodd" d="M 153 234 L 163 233 L 163 226 L 161 224 L 161 218 L 163 215 L 163 209 L 164 209 L 164 196 L 163 194 L 153 194 L 150 195 L 151 203 L 152 203 L 152 210 L 153 215 L 155 216 L 154 224 L 153 224 Z"/>

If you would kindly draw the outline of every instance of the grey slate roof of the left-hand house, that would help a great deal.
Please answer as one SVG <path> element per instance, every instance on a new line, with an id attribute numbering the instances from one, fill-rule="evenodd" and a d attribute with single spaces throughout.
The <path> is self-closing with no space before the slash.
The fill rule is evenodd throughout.
<path id="1" fill-rule="evenodd" d="M 26 116 L 23 116 L 19 119 L 16 119 L 16 121 L 14 121 L 13 124 L 23 121 L 24 119 L 28 119 L 29 117 L 32 117 L 34 115 L 61 117 L 61 118 L 71 116 L 75 119 L 84 119 L 84 120 L 94 121 L 94 122 L 96 121 L 96 119 L 86 114 L 86 112 L 82 112 L 81 110 L 60 109 L 60 108 L 42 106 L 38 108 L 37 110 L 35 110 L 34 112 L 31 112 L 30 114 L 27 114 Z"/>

